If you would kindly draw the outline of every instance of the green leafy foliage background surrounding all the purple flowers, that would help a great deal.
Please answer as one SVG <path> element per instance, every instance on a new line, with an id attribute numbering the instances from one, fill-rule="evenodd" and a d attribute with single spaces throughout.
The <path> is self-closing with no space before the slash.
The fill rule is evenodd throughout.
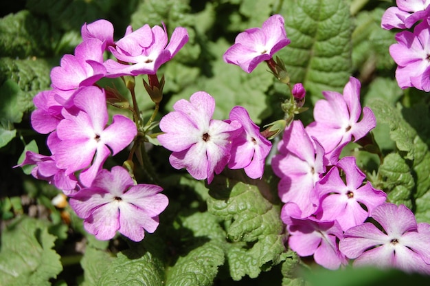
<path id="1" fill-rule="evenodd" d="M 205 90 L 217 102 L 215 118 L 234 105 L 246 107 L 261 126 L 282 117 L 288 91 L 260 65 L 252 74 L 227 65 L 222 55 L 235 36 L 260 27 L 271 14 L 285 18 L 291 39 L 278 53 L 293 83 L 304 83 L 312 121 L 321 91 L 341 92 L 349 76 L 362 83 L 362 103 L 378 120 L 374 137 L 383 153 L 355 155 L 372 184 L 405 203 L 418 221 L 430 223 L 429 95 L 401 90 L 388 47 L 394 31 L 380 28 L 394 1 L 369 0 L 16 0 L 0 3 L 0 285 L 418 285 L 420 276 L 373 269 L 331 272 L 284 251 L 277 179 L 264 181 L 225 173 L 205 186 L 168 165 L 168 152 L 150 151 L 170 198 L 160 227 L 143 243 L 120 236 L 97 241 L 82 221 L 52 198 L 58 190 L 12 168 L 25 150 L 47 154 L 45 137 L 31 129 L 32 98 L 49 89 L 49 72 L 80 43 L 80 27 L 96 19 L 114 24 L 115 39 L 126 26 L 166 23 L 188 29 L 190 42 L 164 65 L 161 114 L 179 98 Z M 138 83 L 138 81 L 137 81 Z M 140 108 L 152 102 L 137 85 Z M 121 164 L 107 162 L 108 165 Z M 235 179 L 231 179 L 234 177 Z M 399 284 L 401 285 L 401 284 Z"/>

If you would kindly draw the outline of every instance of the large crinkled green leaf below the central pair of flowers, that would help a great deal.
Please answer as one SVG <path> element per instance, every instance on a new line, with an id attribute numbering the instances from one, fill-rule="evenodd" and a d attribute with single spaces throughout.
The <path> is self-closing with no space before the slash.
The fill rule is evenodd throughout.
<path id="1" fill-rule="evenodd" d="M 223 219 L 227 239 L 227 260 L 231 277 L 257 277 L 285 259 L 284 225 L 280 206 L 269 186 L 260 180 L 236 181 L 215 177 L 209 186 L 209 212 Z"/>

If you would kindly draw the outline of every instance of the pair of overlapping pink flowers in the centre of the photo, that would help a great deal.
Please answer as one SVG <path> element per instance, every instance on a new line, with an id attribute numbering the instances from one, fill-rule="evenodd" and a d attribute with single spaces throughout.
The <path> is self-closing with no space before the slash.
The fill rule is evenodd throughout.
<path id="1" fill-rule="evenodd" d="M 271 142 L 260 134 L 260 129 L 249 118 L 243 107 L 234 107 L 229 120 L 214 120 L 215 100 L 204 91 L 193 94 L 190 101 L 179 100 L 174 111 L 160 122 L 164 132 L 159 142 L 170 151 L 170 164 L 186 168 L 196 179 L 207 179 L 225 166 L 244 168 L 253 178 L 261 178 Z"/>

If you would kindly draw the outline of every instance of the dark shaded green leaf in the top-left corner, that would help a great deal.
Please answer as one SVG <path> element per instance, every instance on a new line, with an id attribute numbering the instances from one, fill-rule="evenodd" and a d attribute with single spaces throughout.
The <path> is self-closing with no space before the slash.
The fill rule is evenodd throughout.
<path id="1" fill-rule="evenodd" d="M 0 57 L 27 58 L 52 52 L 52 26 L 27 10 L 0 19 Z"/>

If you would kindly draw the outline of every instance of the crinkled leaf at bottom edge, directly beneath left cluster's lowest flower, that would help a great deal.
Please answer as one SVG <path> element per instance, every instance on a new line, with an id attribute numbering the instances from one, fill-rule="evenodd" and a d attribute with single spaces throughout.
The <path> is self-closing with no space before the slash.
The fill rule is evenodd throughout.
<path id="1" fill-rule="evenodd" d="M 98 285 L 163 285 L 164 265 L 150 250 L 136 246 L 118 253 Z"/>

